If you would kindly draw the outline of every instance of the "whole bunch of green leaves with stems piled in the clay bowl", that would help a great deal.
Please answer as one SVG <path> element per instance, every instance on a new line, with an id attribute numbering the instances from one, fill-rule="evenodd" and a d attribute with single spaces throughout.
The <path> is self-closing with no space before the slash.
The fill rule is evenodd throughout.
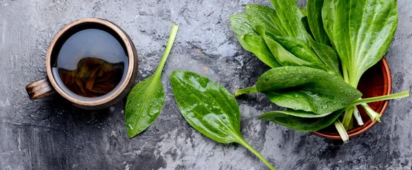
<path id="1" fill-rule="evenodd" d="M 235 95 L 264 93 L 289 108 L 260 119 L 302 132 L 334 123 L 347 141 L 352 118 L 363 125 L 357 105 L 380 121 L 367 103 L 409 96 L 408 90 L 361 99 L 356 90 L 361 75 L 389 49 L 398 25 L 396 0 L 308 0 L 306 9 L 295 0 L 270 1 L 274 9 L 246 5 L 243 14 L 230 17 L 242 47 L 273 68 Z"/>

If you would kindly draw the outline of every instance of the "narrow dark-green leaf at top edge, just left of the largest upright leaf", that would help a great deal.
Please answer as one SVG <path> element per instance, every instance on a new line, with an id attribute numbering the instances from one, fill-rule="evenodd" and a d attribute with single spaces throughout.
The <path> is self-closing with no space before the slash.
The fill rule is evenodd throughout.
<path id="1" fill-rule="evenodd" d="M 328 34 L 323 28 L 322 6 L 324 0 L 308 0 L 308 23 L 314 39 L 324 45 L 330 45 Z"/>

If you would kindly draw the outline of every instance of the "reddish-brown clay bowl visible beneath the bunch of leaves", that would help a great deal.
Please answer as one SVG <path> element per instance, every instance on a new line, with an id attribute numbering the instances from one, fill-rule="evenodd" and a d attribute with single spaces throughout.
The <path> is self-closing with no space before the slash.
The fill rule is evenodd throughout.
<path id="1" fill-rule="evenodd" d="M 377 97 L 381 95 L 390 95 L 392 91 L 392 78 L 391 78 L 391 71 L 389 70 L 389 65 L 385 58 L 382 58 L 370 69 L 368 69 L 361 77 L 361 81 L 358 84 L 358 90 L 361 91 L 363 94 L 362 98 L 367 97 Z M 369 106 L 375 110 L 376 112 L 383 114 L 387 109 L 389 104 L 389 100 L 387 101 L 376 101 L 373 103 L 369 103 Z M 350 138 L 354 136 L 358 136 L 360 134 L 365 133 L 369 130 L 372 126 L 376 124 L 377 121 L 371 121 L 369 116 L 366 112 L 358 106 L 359 112 L 361 112 L 361 117 L 365 125 L 359 126 L 355 122 L 355 127 L 348 131 L 347 134 Z M 330 139 L 341 139 L 338 132 L 336 131 L 334 125 L 330 125 L 323 130 L 319 130 L 317 132 L 312 132 L 317 136 L 321 136 L 323 138 L 330 138 Z"/>

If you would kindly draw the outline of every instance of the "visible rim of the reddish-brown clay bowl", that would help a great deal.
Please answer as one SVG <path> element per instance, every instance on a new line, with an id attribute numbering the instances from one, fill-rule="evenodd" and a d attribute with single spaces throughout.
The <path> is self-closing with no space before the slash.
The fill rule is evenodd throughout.
<path id="1" fill-rule="evenodd" d="M 387 86 L 386 93 L 385 95 L 391 95 L 392 93 L 392 77 L 391 77 L 391 70 L 389 69 L 389 64 L 387 62 L 387 60 L 385 58 L 382 58 L 382 60 L 380 60 L 382 62 L 380 62 L 380 68 L 382 70 L 382 74 L 383 74 L 383 79 L 384 82 L 387 82 L 387 84 L 385 84 L 385 86 Z M 389 100 L 385 100 L 383 101 L 383 107 L 381 110 L 375 110 L 376 112 L 379 112 L 381 115 L 383 115 L 385 113 L 385 110 L 387 110 L 387 107 L 389 105 Z M 369 120 L 370 122 L 370 120 Z M 368 122 L 367 122 L 368 123 Z M 367 124 L 365 123 L 365 124 Z M 363 125 L 360 127 L 356 127 L 350 131 L 347 132 L 348 136 L 350 138 L 353 138 L 355 136 L 359 136 L 363 133 L 365 133 L 367 130 L 369 130 L 371 127 L 373 127 L 375 124 L 377 123 L 377 121 L 371 121 L 371 123 L 367 124 L 367 125 Z M 330 138 L 330 139 L 341 139 L 341 136 L 339 136 L 339 134 L 335 135 L 335 134 L 326 134 L 323 132 L 312 132 L 312 134 L 315 134 L 317 136 L 321 136 L 323 138 Z"/>

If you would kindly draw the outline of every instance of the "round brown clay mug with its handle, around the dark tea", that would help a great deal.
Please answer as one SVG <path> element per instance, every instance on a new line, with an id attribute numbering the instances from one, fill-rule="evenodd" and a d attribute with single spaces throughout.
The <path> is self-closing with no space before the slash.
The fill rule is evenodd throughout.
<path id="1" fill-rule="evenodd" d="M 102 95 L 100 97 L 78 97 L 76 96 L 76 94 L 70 93 L 68 91 L 68 88 L 66 88 L 64 84 L 60 83 L 62 82 L 61 80 L 59 81 L 58 79 L 56 79 L 56 76 L 58 75 L 56 75 L 57 73 L 55 71 L 52 71 L 52 62 L 54 62 L 53 60 L 56 60 L 53 59 L 54 55 L 55 53 L 58 53 L 60 51 L 59 48 L 61 48 L 62 43 L 65 43 L 65 41 L 68 39 L 68 36 L 71 36 L 73 32 L 79 32 L 80 30 L 90 28 L 102 29 L 106 32 L 110 32 L 110 34 L 116 38 L 120 45 L 122 45 L 122 49 L 124 50 L 124 54 L 126 55 L 124 58 L 127 58 L 127 62 L 124 63 L 122 80 L 118 82 L 118 84 L 115 86 L 115 88 L 113 88 L 113 90 L 111 90 L 110 93 L 107 93 L 106 95 Z M 111 23 L 110 21 L 106 21 L 104 19 L 84 18 L 65 25 L 65 27 L 60 29 L 56 36 L 54 36 L 52 42 L 49 45 L 49 48 L 47 49 L 47 78 L 32 82 L 25 88 L 27 90 L 27 94 L 32 100 L 41 99 L 57 92 L 78 108 L 88 110 L 106 108 L 117 103 L 117 101 L 120 101 L 127 95 L 130 88 L 135 82 L 137 75 L 137 66 L 137 52 L 135 46 L 133 45 L 133 41 L 126 34 L 126 32 L 124 32 L 124 30 L 122 30 L 114 23 Z"/>

